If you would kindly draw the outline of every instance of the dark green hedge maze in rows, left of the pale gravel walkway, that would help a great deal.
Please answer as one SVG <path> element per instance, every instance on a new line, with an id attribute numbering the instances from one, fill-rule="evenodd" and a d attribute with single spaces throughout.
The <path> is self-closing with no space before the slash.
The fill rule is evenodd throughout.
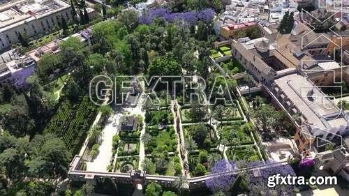
<path id="1" fill-rule="evenodd" d="M 74 105 L 69 100 L 64 100 L 45 127 L 44 133 L 54 133 L 61 137 L 68 149 L 75 154 L 87 136 L 96 114 L 96 105 L 90 102 L 88 96 L 80 98 Z"/>

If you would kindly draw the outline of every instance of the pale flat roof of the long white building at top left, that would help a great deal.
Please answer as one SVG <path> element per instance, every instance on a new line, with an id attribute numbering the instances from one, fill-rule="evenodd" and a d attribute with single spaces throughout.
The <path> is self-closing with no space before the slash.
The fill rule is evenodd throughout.
<path id="1" fill-rule="evenodd" d="M 69 7 L 68 3 L 61 0 L 21 0 L 3 4 L 0 6 L 0 31 Z"/>

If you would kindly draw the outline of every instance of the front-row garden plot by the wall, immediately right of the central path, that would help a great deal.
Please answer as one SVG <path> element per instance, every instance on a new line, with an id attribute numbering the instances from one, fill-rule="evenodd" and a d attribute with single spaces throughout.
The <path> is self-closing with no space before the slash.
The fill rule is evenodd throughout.
<path id="1" fill-rule="evenodd" d="M 211 167 L 222 158 L 222 153 L 217 150 L 191 151 L 188 156 L 188 165 L 191 176 L 196 177 L 208 174 Z"/>

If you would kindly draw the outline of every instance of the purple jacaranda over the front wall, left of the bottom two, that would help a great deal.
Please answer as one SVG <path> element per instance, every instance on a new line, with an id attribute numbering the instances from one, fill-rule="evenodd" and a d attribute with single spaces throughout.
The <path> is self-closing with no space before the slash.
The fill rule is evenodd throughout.
<path id="1" fill-rule="evenodd" d="M 234 162 L 228 163 L 224 159 L 217 161 L 211 168 L 211 178 L 205 181 L 207 188 L 213 193 L 218 190 L 230 190 L 235 182 L 236 172 L 237 167 Z"/>

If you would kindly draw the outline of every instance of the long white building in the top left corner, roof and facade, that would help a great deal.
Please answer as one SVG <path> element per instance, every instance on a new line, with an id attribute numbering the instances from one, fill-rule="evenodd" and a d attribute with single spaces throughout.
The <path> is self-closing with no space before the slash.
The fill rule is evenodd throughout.
<path id="1" fill-rule="evenodd" d="M 22 36 L 45 34 L 71 18 L 70 4 L 61 0 L 20 0 L 0 6 L 0 50 L 18 42 Z"/>

